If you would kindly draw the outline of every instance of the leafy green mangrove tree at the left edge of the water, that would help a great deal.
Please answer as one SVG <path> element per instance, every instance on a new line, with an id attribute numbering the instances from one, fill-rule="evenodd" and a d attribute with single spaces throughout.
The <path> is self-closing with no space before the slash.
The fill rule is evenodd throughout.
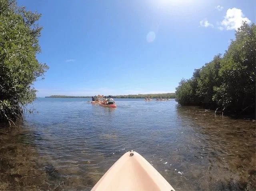
<path id="1" fill-rule="evenodd" d="M 16 6 L 15 0 L 0 0 L 0 121 L 22 117 L 20 104 L 36 98 L 33 82 L 48 69 L 36 59 L 40 16 Z"/>

